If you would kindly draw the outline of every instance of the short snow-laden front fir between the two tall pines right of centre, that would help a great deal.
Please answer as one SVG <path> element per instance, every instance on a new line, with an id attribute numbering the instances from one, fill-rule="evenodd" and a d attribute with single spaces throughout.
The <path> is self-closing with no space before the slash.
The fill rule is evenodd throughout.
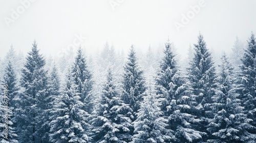
<path id="1" fill-rule="evenodd" d="M 199 142 L 206 135 L 198 128 L 203 121 L 197 114 L 198 103 L 196 102 L 193 88 L 188 81 L 178 88 L 177 97 L 170 103 L 173 113 L 169 115 L 169 126 L 175 131 L 175 142 Z"/>

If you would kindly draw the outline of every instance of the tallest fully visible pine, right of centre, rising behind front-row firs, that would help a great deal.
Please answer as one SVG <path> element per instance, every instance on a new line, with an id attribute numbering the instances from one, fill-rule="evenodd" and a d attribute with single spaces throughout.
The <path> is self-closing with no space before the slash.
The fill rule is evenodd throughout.
<path id="1" fill-rule="evenodd" d="M 188 68 L 189 81 L 195 89 L 194 93 L 199 96 L 199 103 L 208 103 L 210 101 L 208 92 L 216 78 L 214 61 L 206 47 L 203 35 L 198 36 L 198 43 L 194 46 L 194 58 L 190 61 Z"/>

